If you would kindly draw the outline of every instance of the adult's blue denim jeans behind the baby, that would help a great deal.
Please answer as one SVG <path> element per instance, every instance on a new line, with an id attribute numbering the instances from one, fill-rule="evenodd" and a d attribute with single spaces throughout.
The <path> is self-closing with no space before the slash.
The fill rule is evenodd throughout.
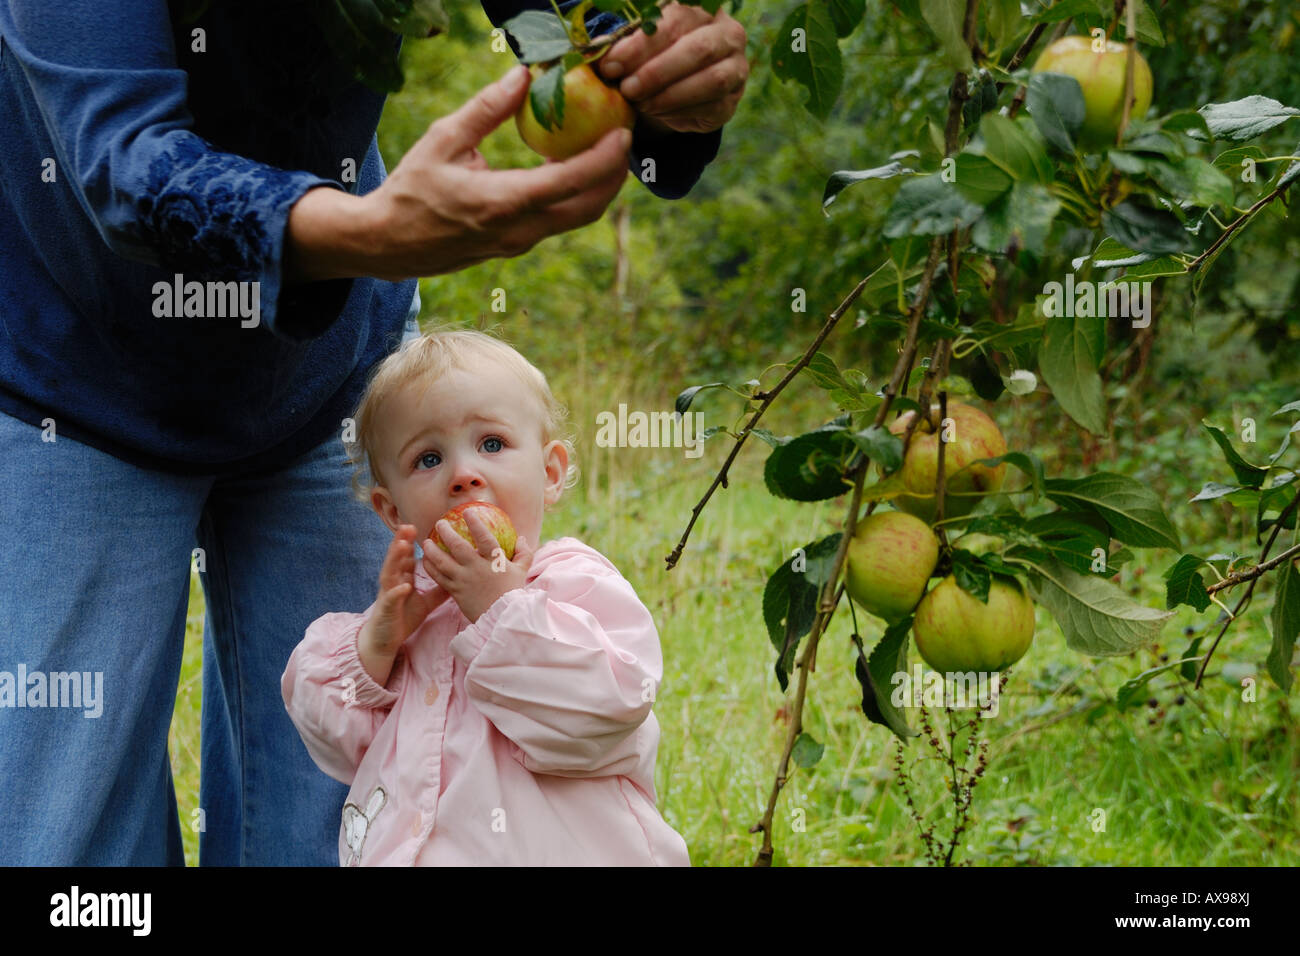
<path id="1" fill-rule="evenodd" d="M 0 414 L 0 865 L 185 864 L 168 731 L 194 548 L 200 862 L 338 865 L 347 787 L 280 678 L 312 620 L 374 601 L 393 536 L 350 476 L 338 437 L 274 472 L 177 476 Z"/>

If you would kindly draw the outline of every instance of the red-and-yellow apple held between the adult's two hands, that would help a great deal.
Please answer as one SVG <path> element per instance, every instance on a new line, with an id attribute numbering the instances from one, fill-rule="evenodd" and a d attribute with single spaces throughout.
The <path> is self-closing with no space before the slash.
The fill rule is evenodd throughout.
<path id="1" fill-rule="evenodd" d="M 533 82 L 537 83 L 542 68 L 533 65 L 528 69 Z M 564 85 L 563 122 L 556 117 L 551 129 L 546 129 L 538 121 L 537 113 L 534 113 L 534 100 L 538 101 L 538 112 L 549 114 L 549 90 L 541 83 L 529 90 L 528 99 L 515 113 L 519 135 L 534 152 L 546 159 L 566 160 L 595 146 L 610 130 L 619 126 L 632 129 L 636 124 L 636 113 L 623 99 L 623 94 L 606 86 L 588 64 L 578 64 L 568 70 L 562 82 Z"/>

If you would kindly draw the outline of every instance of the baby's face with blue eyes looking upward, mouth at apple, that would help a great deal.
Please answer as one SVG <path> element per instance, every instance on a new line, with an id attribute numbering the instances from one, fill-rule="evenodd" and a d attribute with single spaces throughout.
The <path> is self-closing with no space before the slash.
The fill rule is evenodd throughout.
<path id="1" fill-rule="evenodd" d="M 385 405 L 378 446 L 387 484 L 370 502 L 389 528 L 413 524 L 424 541 L 450 509 L 489 501 L 536 548 L 568 468 L 564 445 L 543 445 L 542 427 L 536 395 L 482 359 L 447 369 L 428 389 L 410 385 Z"/>

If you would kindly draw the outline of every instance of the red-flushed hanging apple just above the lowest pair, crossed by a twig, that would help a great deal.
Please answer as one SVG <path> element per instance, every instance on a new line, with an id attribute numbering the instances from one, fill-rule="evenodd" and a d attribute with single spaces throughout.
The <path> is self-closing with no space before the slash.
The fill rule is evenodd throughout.
<path id="1" fill-rule="evenodd" d="M 889 425 L 893 434 L 902 436 L 914 411 L 900 415 Z M 935 484 L 939 477 L 939 441 L 944 446 L 944 515 L 963 518 L 980 498 L 1002 486 L 1006 464 L 988 467 L 975 464 L 983 458 L 1001 458 L 1006 454 L 1006 440 L 988 415 L 970 405 L 950 402 L 949 428 L 939 420 L 939 406 L 931 406 L 930 418 L 916 425 L 902 463 L 902 483 L 907 492 L 894 498 L 894 506 L 915 515 L 927 524 L 935 519 Z M 971 466 L 971 467 L 967 467 Z"/>

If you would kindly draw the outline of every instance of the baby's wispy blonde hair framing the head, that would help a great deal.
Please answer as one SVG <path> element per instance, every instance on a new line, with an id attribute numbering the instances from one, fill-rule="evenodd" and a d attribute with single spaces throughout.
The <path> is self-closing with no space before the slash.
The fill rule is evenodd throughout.
<path id="1" fill-rule="evenodd" d="M 442 329 L 412 338 L 381 362 L 361 395 L 352 421 L 356 441 L 348 445 L 348 460 L 354 467 L 352 493 L 365 505 L 376 485 L 386 484 L 380 467 L 378 424 L 384 405 L 402 389 L 411 385 L 433 384 L 448 368 L 468 368 L 473 358 L 491 359 L 506 372 L 517 376 L 533 393 L 542 408 L 542 444 L 559 438 L 573 459 L 573 440 L 562 431 L 568 424 L 568 411 L 555 401 L 551 386 L 536 365 L 499 338 L 476 329 Z M 577 467 L 569 464 L 564 486 L 577 481 Z"/>

